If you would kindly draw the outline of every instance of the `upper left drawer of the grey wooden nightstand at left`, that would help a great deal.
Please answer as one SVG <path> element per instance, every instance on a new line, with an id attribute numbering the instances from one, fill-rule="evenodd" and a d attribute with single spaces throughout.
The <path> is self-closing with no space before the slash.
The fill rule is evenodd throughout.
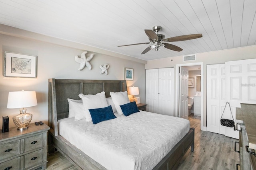
<path id="1" fill-rule="evenodd" d="M 0 145 L 0 160 L 20 154 L 20 140 Z"/>

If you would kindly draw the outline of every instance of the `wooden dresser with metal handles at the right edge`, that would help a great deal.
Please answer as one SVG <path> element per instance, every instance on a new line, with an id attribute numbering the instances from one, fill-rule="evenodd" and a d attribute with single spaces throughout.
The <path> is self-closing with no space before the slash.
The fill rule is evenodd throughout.
<path id="1" fill-rule="evenodd" d="M 236 122 L 240 124 L 239 142 L 235 143 L 235 151 L 240 154 L 237 169 L 256 170 L 256 105 L 241 104 L 236 108 Z"/>

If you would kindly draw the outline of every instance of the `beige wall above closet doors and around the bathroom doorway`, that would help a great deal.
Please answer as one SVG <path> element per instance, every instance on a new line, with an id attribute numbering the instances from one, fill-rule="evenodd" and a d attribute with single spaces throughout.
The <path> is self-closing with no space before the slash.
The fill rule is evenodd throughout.
<path id="1" fill-rule="evenodd" d="M 212 51 L 207 53 L 198 53 L 196 54 L 196 61 L 183 61 L 182 56 L 178 57 L 169 57 L 166 59 L 158 59 L 158 60 L 151 60 L 145 65 L 146 69 L 152 68 L 165 68 L 165 67 L 174 67 L 174 75 L 176 80 L 177 72 L 176 72 L 176 64 L 188 64 L 188 63 L 199 63 L 203 62 L 203 87 L 204 87 L 204 99 L 206 99 L 206 65 L 207 64 L 218 64 L 218 63 L 225 63 L 226 61 L 236 61 L 236 60 L 243 60 L 243 59 L 254 59 L 256 58 L 256 45 L 249 46 L 249 47 L 241 47 L 236 49 L 227 49 L 221 51 Z M 178 83 L 178 82 L 175 82 Z M 177 89 L 176 89 L 177 90 Z M 175 96 L 176 98 L 176 96 Z M 177 100 L 177 99 L 175 99 Z M 203 125 L 206 127 L 206 100 L 204 100 L 204 122 Z"/>

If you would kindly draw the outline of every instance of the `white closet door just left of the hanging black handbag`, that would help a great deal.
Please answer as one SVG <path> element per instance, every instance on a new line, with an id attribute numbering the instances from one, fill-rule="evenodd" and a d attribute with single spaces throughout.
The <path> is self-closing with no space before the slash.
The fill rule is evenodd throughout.
<path id="1" fill-rule="evenodd" d="M 225 135 L 225 127 L 220 125 L 223 106 L 225 106 L 225 64 L 207 65 L 207 131 Z"/>

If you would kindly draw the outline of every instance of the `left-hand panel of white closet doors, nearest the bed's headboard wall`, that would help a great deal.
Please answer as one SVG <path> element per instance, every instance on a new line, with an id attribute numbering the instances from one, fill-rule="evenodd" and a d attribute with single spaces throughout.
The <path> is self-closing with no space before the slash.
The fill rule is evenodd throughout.
<path id="1" fill-rule="evenodd" d="M 146 70 L 146 111 L 158 113 L 158 69 Z"/>

